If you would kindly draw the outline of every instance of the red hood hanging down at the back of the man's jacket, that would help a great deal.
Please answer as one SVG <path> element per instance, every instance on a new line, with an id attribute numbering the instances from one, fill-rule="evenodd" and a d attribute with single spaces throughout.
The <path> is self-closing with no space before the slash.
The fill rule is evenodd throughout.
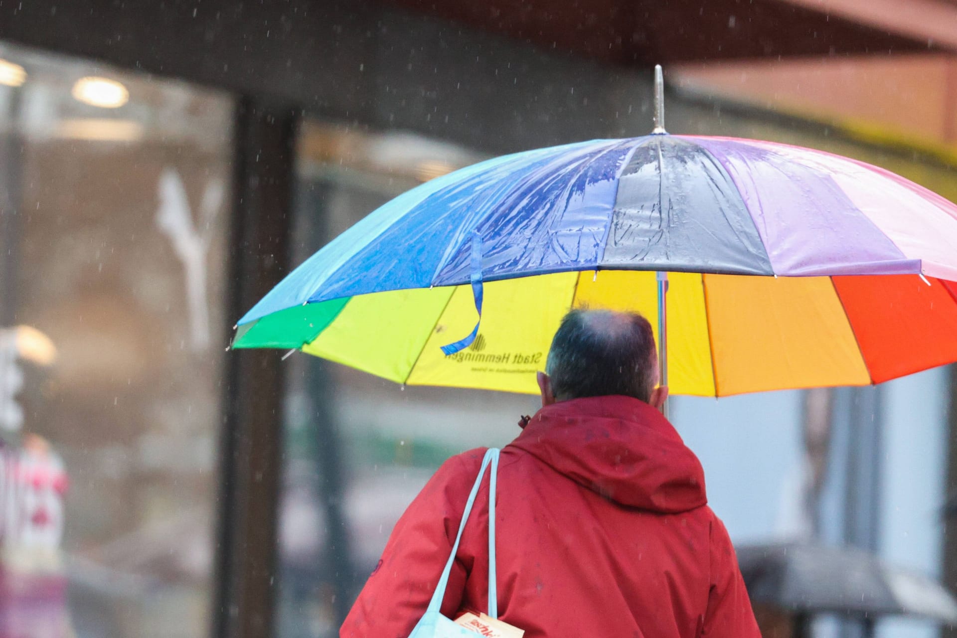
<path id="1" fill-rule="evenodd" d="M 656 408 L 632 397 L 543 407 L 511 446 L 621 505 L 677 514 L 707 503 L 698 457 Z"/>

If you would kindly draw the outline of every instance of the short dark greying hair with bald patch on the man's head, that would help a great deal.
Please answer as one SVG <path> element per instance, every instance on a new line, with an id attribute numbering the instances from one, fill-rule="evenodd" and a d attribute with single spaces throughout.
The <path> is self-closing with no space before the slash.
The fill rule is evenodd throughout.
<path id="1" fill-rule="evenodd" d="M 652 324 L 638 313 L 572 310 L 551 341 L 545 372 L 559 401 L 622 394 L 647 403 L 657 383 Z"/>

